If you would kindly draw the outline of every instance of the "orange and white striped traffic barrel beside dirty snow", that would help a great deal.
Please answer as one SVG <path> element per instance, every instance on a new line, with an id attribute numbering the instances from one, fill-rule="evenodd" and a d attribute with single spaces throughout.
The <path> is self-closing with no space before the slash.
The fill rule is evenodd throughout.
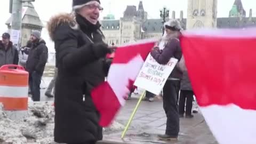
<path id="1" fill-rule="evenodd" d="M 28 110 L 28 72 L 18 65 L 0 68 L 0 103 L 4 110 Z"/>

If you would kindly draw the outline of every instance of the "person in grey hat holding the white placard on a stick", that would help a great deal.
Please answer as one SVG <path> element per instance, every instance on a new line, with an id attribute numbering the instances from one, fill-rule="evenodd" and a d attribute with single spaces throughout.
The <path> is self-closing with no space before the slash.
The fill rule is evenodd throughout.
<path id="1" fill-rule="evenodd" d="M 151 51 L 151 56 L 161 65 L 168 65 L 171 58 L 180 60 L 182 56 L 179 43 L 180 22 L 171 19 L 164 23 L 165 35 L 159 46 Z M 182 71 L 177 66 L 173 69 L 163 88 L 163 107 L 167 116 L 165 134 L 159 134 L 160 140 L 178 140 L 179 134 L 179 107 L 177 95 L 179 93 Z"/>

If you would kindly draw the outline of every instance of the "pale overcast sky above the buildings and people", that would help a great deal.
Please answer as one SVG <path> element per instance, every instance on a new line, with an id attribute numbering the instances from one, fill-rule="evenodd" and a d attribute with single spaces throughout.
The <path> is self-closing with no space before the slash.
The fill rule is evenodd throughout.
<path id="1" fill-rule="evenodd" d="M 114 14 L 116 19 L 122 17 L 126 5 L 135 5 L 138 8 L 140 0 L 101 0 L 101 5 L 104 8 L 101 17 L 108 13 Z M 170 11 L 175 11 L 176 17 L 179 17 L 180 11 L 187 17 L 187 1 L 188 0 L 142 0 L 145 11 L 148 12 L 148 18 L 159 18 L 159 10 L 166 6 Z M 218 1 L 218 17 L 228 17 L 235 0 L 219 0 Z M 34 6 L 43 21 L 59 12 L 70 12 L 72 0 L 35 0 Z M 256 0 L 242 0 L 246 15 L 249 15 L 249 10 L 252 9 L 253 16 L 256 17 Z M 0 34 L 6 31 L 5 21 L 10 17 L 9 0 L 1 0 L 0 4 Z"/>

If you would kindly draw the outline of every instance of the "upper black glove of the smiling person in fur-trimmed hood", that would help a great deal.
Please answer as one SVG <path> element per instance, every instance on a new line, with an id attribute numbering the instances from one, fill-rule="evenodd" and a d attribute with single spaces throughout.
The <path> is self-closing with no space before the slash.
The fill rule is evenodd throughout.
<path id="1" fill-rule="evenodd" d="M 105 58 L 108 53 L 112 52 L 105 43 L 93 44 L 92 50 L 97 58 Z"/>

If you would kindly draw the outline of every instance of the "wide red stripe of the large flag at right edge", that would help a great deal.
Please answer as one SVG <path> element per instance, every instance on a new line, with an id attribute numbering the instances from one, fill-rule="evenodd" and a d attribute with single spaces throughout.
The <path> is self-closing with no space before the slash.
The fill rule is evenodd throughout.
<path id="1" fill-rule="evenodd" d="M 256 37 L 181 36 L 198 105 L 256 110 Z"/>

